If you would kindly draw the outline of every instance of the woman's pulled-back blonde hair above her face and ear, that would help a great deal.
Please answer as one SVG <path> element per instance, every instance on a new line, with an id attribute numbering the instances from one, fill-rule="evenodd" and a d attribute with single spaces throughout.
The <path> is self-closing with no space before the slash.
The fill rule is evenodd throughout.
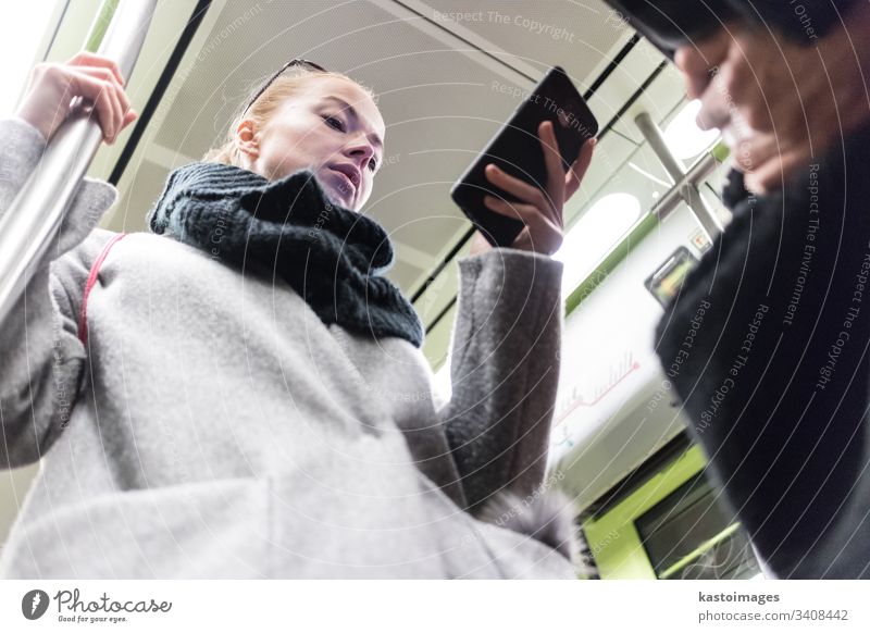
<path id="1" fill-rule="evenodd" d="M 359 84 L 358 82 L 355 82 L 343 73 L 336 73 L 333 71 L 312 71 L 302 66 L 288 69 L 274 82 L 272 82 L 272 84 L 270 84 L 263 94 L 260 95 L 253 103 L 251 103 L 250 108 L 248 108 L 248 111 L 246 112 L 244 110 L 245 105 L 256 91 L 256 89 L 251 90 L 248 100 L 246 100 L 245 103 L 239 107 L 238 112 L 233 116 L 233 121 L 229 124 L 229 129 L 226 132 L 226 138 L 224 142 L 219 147 L 214 147 L 207 151 L 202 157 L 202 160 L 206 162 L 223 163 L 226 165 L 244 167 L 245 164 L 241 160 L 241 152 L 236 144 L 236 131 L 238 129 L 238 126 L 241 125 L 241 122 L 250 119 L 253 121 L 258 129 L 262 129 L 263 126 L 269 123 L 270 119 L 272 119 L 272 115 L 277 111 L 281 104 L 284 103 L 284 101 L 301 92 L 302 88 L 311 83 L 312 79 L 321 77 L 335 77 L 352 82 L 363 91 L 365 91 L 365 94 L 372 99 L 375 99 L 372 90 Z"/>

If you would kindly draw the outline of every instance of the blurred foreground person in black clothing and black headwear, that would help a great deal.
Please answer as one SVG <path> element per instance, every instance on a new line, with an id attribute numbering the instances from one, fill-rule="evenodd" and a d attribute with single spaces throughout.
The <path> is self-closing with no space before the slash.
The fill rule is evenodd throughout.
<path id="1" fill-rule="evenodd" d="M 674 60 L 732 149 L 734 220 L 658 353 L 769 569 L 870 578 L 870 12 L 728 4 Z"/>

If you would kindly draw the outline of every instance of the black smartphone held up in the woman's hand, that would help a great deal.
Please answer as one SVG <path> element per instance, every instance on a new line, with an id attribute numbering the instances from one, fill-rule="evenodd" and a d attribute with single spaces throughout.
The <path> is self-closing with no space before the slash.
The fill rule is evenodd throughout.
<path id="1" fill-rule="evenodd" d="M 508 174 L 544 189 L 547 166 L 537 128 L 552 121 L 567 172 L 586 140 L 598 134 L 598 122 L 562 69 L 555 66 L 520 103 L 510 120 L 450 189 L 450 196 L 493 246 L 510 246 L 523 229 L 518 218 L 490 211 L 486 195 L 515 202 L 517 198 L 493 185 L 484 170 L 495 163 Z"/>

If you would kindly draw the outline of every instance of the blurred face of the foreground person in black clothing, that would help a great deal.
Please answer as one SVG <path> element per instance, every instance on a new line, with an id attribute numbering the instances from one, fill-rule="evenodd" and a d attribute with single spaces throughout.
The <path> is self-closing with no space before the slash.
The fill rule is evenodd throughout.
<path id="1" fill-rule="evenodd" d="M 750 190 L 781 188 L 868 119 L 859 63 L 870 63 L 868 16 L 850 17 L 848 32 L 834 29 L 818 46 L 730 24 L 676 51 L 688 97 L 701 100 L 698 125 L 722 129 Z"/>

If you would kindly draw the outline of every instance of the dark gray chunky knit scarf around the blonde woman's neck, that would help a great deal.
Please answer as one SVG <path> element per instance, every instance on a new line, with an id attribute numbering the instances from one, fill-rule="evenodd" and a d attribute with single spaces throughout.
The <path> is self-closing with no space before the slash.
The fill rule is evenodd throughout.
<path id="1" fill-rule="evenodd" d="M 148 213 L 151 231 L 212 252 L 239 268 L 286 280 L 325 324 L 420 347 L 413 307 L 384 272 L 393 263 L 386 232 L 328 201 L 309 171 L 266 178 L 219 163 L 170 174 Z"/>

